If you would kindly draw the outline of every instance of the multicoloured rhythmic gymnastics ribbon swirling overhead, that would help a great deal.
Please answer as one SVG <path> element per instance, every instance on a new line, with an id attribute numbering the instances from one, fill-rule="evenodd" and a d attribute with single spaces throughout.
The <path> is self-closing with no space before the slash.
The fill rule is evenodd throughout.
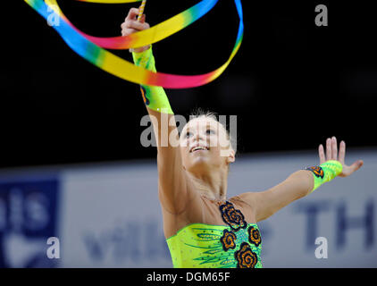
<path id="1" fill-rule="evenodd" d="M 127 49 L 130 47 L 147 46 L 172 36 L 180 29 L 184 29 L 189 24 L 197 21 L 200 17 L 210 11 L 218 0 L 202 0 L 200 3 L 192 6 L 188 10 L 173 16 L 171 19 L 163 21 L 160 24 L 145 29 L 127 37 L 98 38 L 93 37 L 80 31 L 71 24 L 64 16 L 55 0 L 24 0 L 46 20 L 51 15 L 52 9 L 55 17 L 59 17 L 59 25 L 53 25 L 53 28 L 61 35 L 63 40 L 71 49 L 88 62 L 95 64 L 100 69 L 112 73 L 113 75 L 138 84 L 149 86 L 161 86 L 163 88 L 193 88 L 205 85 L 215 80 L 228 67 L 230 61 L 237 54 L 243 37 L 243 15 L 240 0 L 235 0 L 237 11 L 239 13 L 239 32 L 236 44 L 230 54 L 228 61 L 214 71 L 200 75 L 175 75 L 163 72 L 147 71 L 134 65 L 121 57 L 113 55 L 105 50 Z M 81 2 L 121 4 L 137 2 L 135 0 L 77 0 Z"/>

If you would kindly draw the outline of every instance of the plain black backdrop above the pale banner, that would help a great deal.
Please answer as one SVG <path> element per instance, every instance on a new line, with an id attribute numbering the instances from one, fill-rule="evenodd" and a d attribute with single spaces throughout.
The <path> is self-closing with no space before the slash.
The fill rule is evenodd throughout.
<path id="1" fill-rule="evenodd" d="M 12 1 L 13 2 L 13 1 Z M 198 1 L 147 1 L 151 26 Z M 304 3 L 305 2 L 305 3 Z M 138 4 L 58 1 L 79 29 L 121 33 Z M 14 4 L 14 2 L 13 2 Z M 138 85 L 76 55 L 28 4 L 3 9 L 0 167 L 155 157 L 139 143 L 147 114 Z M 315 149 L 327 137 L 375 147 L 377 63 L 374 7 L 359 2 L 242 1 L 245 34 L 220 78 L 199 88 L 166 89 L 175 114 L 201 106 L 238 115 L 238 151 Z M 316 27 L 326 4 L 329 26 Z M 203 18 L 154 44 L 158 71 L 199 74 L 224 63 L 239 18 L 220 0 Z M 128 51 L 114 51 L 131 61 Z"/>

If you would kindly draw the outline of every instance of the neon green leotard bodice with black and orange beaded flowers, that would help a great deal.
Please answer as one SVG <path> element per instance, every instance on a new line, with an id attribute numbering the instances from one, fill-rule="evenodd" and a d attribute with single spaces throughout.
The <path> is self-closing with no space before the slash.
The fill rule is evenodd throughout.
<path id="1" fill-rule="evenodd" d="M 174 267 L 261 268 L 262 240 L 256 223 L 230 201 L 217 203 L 226 225 L 191 223 L 167 239 Z"/>

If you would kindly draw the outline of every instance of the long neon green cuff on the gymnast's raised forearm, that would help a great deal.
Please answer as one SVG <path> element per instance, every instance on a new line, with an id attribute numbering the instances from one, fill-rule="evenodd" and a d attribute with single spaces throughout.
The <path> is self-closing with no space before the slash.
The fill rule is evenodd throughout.
<path id="1" fill-rule="evenodd" d="M 152 53 L 152 45 L 141 53 L 132 53 L 133 62 L 148 71 L 155 70 L 155 57 Z M 162 87 L 140 85 L 144 103 L 155 111 L 163 114 L 173 114 L 169 99 Z"/>

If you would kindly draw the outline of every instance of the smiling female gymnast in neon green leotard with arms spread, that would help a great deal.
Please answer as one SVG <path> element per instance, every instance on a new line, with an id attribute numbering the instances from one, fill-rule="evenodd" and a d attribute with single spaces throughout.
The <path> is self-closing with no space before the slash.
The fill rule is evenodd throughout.
<path id="1" fill-rule="evenodd" d="M 141 21 L 137 17 L 138 9 L 131 8 L 121 24 L 122 36 L 149 29 L 145 14 Z M 132 57 L 136 65 L 155 71 L 151 45 L 135 48 Z M 141 86 L 141 93 L 148 114 L 155 118 L 158 196 L 174 267 L 262 267 L 262 239 L 256 223 L 324 182 L 347 177 L 363 165 L 361 160 L 345 164 L 346 144 L 340 142 L 338 154 L 337 139 L 332 137 L 326 140 L 326 152 L 319 146 L 319 166 L 293 172 L 271 189 L 227 198 L 228 172 L 235 152 L 225 127 L 214 114 L 201 114 L 179 135 L 163 88 Z M 164 117 L 173 123 L 166 134 L 173 134 L 178 146 L 169 140 L 167 146 L 161 144 Z M 221 140 L 229 144 L 219 144 Z M 217 145 L 211 144 L 216 141 Z"/>

